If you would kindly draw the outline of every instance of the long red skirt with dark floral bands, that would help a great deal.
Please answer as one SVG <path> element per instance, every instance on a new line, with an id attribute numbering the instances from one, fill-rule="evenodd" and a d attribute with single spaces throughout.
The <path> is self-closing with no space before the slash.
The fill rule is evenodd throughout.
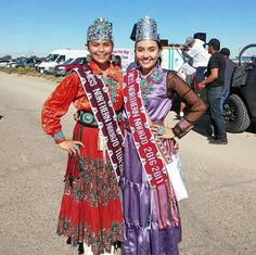
<path id="1" fill-rule="evenodd" d="M 94 254 L 111 252 L 123 237 L 118 186 L 110 161 L 98 150 L 98 128 L 75 126 L 74 140 L 85 148 L 80 156 L 68 156 L 56 230 L 74 245 L 85 242 Z"/>

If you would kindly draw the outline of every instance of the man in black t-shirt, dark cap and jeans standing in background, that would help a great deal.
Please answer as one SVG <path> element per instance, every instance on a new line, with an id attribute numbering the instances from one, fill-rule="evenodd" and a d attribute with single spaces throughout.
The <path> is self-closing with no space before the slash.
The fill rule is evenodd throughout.
<path id="1" fill-rule="evenodd" d="M 227 144 L 226 124 L 222 116 L 222 94 L 225 90 L 226 61 L 219 52 L 220 41 L 216 38 L 209 40 L 208 52 L 212 54 L 207 66 L 206 78 L 201 81 L 199 89 L 206 88 L 206 99 L 209 110 L 209 120 L 214 128 L 214 136 L 208 138 L 212 144 Z"/>

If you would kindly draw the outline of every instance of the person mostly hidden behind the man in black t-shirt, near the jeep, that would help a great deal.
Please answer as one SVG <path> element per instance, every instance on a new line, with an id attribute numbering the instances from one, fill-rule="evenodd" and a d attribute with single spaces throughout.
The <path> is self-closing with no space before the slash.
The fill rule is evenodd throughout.
<path id="1" fill-rule="evenodd" d="M 235 67 L 235 64 L 233 61 L 231 61 L 229 59 L 230 56 L 230 50 L 228 48 L 222 48 L 220 50 L 220 53 L 223 55 L 225 58 L 225 61 L 226 61 L 226 68 L 225 68 L 225 90 L 223 90 L 223 93 L 222 93 L 222 105 L 226 101 L 226 99 L 228 98 L 229 95 L 229 92 L 230 92 L 230 86 L 231 86 L 231 81 L 232 81 L 232 75 L 233 75 L 233 72 L 234 72 L 234 67 Z"/>

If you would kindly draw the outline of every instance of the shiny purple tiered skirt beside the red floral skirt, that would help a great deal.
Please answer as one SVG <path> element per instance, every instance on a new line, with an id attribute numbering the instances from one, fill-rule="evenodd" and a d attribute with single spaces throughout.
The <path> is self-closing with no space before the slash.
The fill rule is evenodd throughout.
<path id="1" fill-rule="evenodd" d="M 159 230 L 156 206 L 148 178 L 142 169 L 131 133 L 126 133 L 125 169 L 121 181 L 124 207 L 124 255 L 178 255 L 181 227 L 168 221 Z"/>

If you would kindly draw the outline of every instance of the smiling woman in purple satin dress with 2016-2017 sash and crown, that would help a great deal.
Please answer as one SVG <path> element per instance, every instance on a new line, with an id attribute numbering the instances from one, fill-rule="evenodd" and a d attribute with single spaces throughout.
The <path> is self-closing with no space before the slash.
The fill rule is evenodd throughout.
<path id="1" fill-rule="evenodd" d="M 177 155 L 175 137 L 183 137 L 206 110 L 204 102 L 174 71 L 159 66 L 156 23 L 137 23 L 138 67 L 125 77 L 125 168 L 121 182 L 125 217 L 123 254 L 177 255 L 181 224 L 177 195 L 166 165 Z M 174 98 L 190 111 L 174 128 L 165 126 Z"/>

